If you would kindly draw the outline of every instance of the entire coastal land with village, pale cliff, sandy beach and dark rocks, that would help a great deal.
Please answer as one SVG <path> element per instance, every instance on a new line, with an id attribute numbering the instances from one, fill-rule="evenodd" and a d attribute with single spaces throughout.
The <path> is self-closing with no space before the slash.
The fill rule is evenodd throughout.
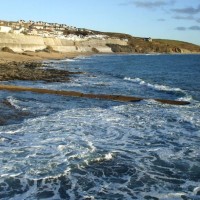
<path id="1" fill-rule="evenodd" d="M 65 81 L 59 70 L 44 70 L 41 61 L 99 53 L 199 53 L 200 46 L 173 40 L 135 37 L 43 21 L 0 20 L 0 81 Z"/>

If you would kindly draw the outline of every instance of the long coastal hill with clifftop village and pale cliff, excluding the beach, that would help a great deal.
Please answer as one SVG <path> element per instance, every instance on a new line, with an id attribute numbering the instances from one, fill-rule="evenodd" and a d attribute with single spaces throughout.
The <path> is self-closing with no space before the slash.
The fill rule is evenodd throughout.
<path id="1" fill-rule="evenodd" d="M 94 53 L 200 53 L 200 46 L 176 40 L 134 37 L 65 24 L 0 20 L 0 50 Z M 8 49 L 7 49 L 8 50 Z"/>

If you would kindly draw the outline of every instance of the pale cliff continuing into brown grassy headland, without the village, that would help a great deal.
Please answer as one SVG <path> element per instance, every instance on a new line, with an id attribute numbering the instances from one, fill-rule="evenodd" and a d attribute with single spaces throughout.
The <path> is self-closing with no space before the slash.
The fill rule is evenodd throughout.
<path id="1" fill-rule="evenodd" d="M 47 47 L 58 52 L 95 53 L 199 53 L 200 46 L 174 40 L 147 41 L 121 33 L 94 32 L 106 38 L 69 40 L 23 34 L 0 33 L 0 50 L 9 47 L 14 52 L 40 51 Z"/>

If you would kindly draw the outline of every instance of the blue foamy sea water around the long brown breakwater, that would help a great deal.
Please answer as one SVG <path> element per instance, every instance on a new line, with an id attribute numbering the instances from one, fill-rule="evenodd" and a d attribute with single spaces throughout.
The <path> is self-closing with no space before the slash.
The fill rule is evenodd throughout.
<path id="1" fill-rule="evenodd" d="M 44 67 L 84 73 L 4 84 L 149 100 L 0 91 L 0 199 L 200 199 L 200 55 L 95 55 Z"/>

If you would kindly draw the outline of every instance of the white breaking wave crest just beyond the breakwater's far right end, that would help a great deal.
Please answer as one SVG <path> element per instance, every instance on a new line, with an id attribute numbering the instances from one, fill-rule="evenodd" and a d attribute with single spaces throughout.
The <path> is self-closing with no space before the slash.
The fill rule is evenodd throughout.
<path id="1" fill-rule="evenodd" d="M 166 85 L 147 83 L 144 80 L 142 80 L 141 78 L 124 77 L 124 80 L 131 81 L 131 82 L 134 82 L 134 83 L 138 83 L 140 85 L 143 85 L 143 86 L 146 86 L 146 87 L 152 88 L 154 90 L 158 90 L 158 91 L 181 92 L 181 93 L 185 94 L 185 92 L 180 88 L 172 88 L 172 87 L 169 87 L 169 86 L 166 86 Z"/>

